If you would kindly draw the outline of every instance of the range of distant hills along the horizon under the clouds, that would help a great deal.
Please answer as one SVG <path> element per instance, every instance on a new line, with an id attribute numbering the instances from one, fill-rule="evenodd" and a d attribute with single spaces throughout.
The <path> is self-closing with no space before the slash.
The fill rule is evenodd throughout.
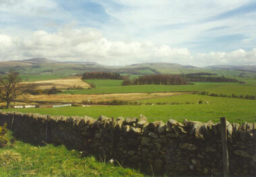
<path id="1" fill-rule="evenodd" d="M 59 62 L 47 58 L 31 58 L 0 62 L 0 74 L 8 70 L 16 70 L 20 74 L 63 75 L 70 76 L 84 72 L 104 71 L 120 74 L 189 74 L 207 72 L 226 76 L 256 77 L 256 65 L 215 65 L 197 67 L 165 62 L 146 62 L 127 66 L 104 66 L 96 62 Z"/>

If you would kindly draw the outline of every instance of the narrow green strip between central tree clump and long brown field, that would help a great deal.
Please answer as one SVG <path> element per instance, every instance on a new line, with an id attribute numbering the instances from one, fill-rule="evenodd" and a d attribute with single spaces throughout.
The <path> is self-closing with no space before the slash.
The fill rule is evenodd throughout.
<path id="1" fill-rule="evenodd" d="M 96 83 L 95 83 L 96 84 Z M 195 82 L 188 85 L 129 85 L 129 86 L 99 86 L 98 88 L 65 91 L 61 94 L 102 94 L 102 93 L 151 93 L 201 91 L 207 88 L 230 84 L 230 82 Z M 97 84 L 96 84 L 97 86 Z"/>

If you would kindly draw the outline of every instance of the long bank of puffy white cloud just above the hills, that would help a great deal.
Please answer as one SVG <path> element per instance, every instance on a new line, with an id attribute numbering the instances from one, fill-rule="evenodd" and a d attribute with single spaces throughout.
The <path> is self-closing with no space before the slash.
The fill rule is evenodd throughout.
<path id="1" fill-rule="evenodd" d="M 187 48 L 171 48 L 152 42 L 108 40 L 98 29 L 61 29 L 49 33 L 36 31 L 32 36 L 0 34 L 0 60 L 45 57 L 59 61 L 94 61 L 106 65 L 138 62 L 172 62 L 207 66 L 212 64 L 256 64 L 256 49 L 251 52 L 210 52 L 191 55 Z"/>

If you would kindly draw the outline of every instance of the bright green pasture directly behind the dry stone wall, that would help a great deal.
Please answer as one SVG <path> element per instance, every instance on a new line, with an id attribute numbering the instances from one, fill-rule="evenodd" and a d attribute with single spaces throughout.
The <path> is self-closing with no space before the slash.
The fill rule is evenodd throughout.
<path id="1" fill-rule="evenodd" d="M 166 101 L 166 98 L 155 99 Z M 253 123 L 256 121 L 256 102 L 245 99 L 232 99 L 222 97 L 210 97 L 204 95 L 179 95 L 170 97 L 171 102 L 186 103 L 203 101 L 203 104 L 184 105 L 127 105 L 127 106 L 91 106 L 91 107 L 59 107 L 59 108 L 28 108 L 9 109 L 5 111 L 20 111 L 29 113 L 41 113 L 49 115 L 88 115 L 98 118 L 100 115 L 108 117 L 139 117 L 140 114 L 148 117 L 148 121 L 177 119 L 183 121 L 187 118 L 191 121 L 219 122 L 219 117 L 226 117 L 230 123 Z M 152 100 L 151 100 L 152 101 Z M 205 104 L 205 101 L 210 104 Z M 140 101 L 143 102 L 143 101 Z M 150 102 L 149 100 L 144 101 Z"/>

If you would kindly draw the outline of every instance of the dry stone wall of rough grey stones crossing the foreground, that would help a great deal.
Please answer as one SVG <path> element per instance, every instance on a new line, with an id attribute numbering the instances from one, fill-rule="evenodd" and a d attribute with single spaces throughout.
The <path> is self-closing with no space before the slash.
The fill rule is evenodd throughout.
<path id="1" fill-rule="evenodd" d="M 0 112 L 0 125 L 4 123 L 17 137 L 33 143 L 64 144 L 158 174 L 222 176 L 220 123 L 212 121 L 163 123 L 143 116 L 92 119 Z M 231 176 L 256 176 L 256 123 L 227 122 L 227 129 Z"/>

